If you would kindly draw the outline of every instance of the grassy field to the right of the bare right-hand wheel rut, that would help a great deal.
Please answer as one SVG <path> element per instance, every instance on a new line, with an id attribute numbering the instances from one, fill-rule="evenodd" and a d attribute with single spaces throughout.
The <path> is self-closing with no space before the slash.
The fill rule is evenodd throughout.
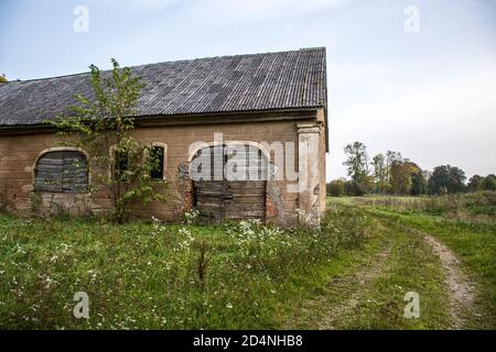
<path id="1" fill-rule="evenodd" d="M 443 197 L 332 199 L 376 219 L 428 233 L 452 250 L 476 285 L 478 312 L 470 328 L 496 328 L 496 193 Z"/>

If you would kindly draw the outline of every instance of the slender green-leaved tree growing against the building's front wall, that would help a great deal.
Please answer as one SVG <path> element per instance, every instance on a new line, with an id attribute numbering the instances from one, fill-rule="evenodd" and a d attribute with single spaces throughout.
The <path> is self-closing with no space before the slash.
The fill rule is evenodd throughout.
<path id="1" fill-rule="evenodd" d="M 114 202 L 114 220 L 128 220 L 134 204 L 162 199 L 158 188 L 163 183 L 152 179 L 151 170 L 159 161 L 152 146 L 131 136 L 136 103 L 142 85 L 130 68 L 120 68 L 112 59 L 111 73 L 101 73 L 91 65 L 90 84 L 94 99 L 76 95 L 72 113 L 56 117 L 50 123 L 71 142 L 89 154 L 90 191 L 106 191 Z"/>

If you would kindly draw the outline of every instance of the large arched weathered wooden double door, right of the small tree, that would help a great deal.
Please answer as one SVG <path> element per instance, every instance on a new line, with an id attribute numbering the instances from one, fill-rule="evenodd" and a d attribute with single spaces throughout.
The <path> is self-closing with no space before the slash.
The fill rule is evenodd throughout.
<path id="1" fill-rule="evenodd" d="M 236 146 L 236 154 L 229 148 L 209 148 L 213 166 L 211 177 L 194 182 L 196 208 L 201 217 L 209 221 L 265 221 L 267 161 L 262 153 L 252 146 Z M 222 157 L 215 158 L 214 153 L 222 153 Z"/>

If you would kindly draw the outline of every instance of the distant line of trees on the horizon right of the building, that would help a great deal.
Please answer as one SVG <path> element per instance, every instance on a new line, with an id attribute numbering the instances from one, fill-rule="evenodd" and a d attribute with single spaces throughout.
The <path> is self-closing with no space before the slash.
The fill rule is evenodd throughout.
<path id="1" fill-rule="evenodd" d="M 399 152 L 387 151 L 369 157 L 362 142 L 345 146 L 347 175 L 351 179 L 335 179 L 327 184 L 327 194 L 339 196 L 378 195 L 443 195 L 462 191 L 496 190 L 496 176 L 474 175 L 465 184 L 463 169 L 441 165 L 432 172 L 423 170 L 418 164 Z"/>

